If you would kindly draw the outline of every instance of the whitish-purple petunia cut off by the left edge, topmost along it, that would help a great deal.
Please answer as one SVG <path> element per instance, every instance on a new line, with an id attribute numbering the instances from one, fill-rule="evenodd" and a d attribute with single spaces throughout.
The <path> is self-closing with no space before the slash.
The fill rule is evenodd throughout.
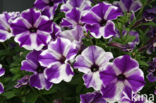
<path id="1" fill-rule="evenodd" d="M 0 42 L 4 42 L 13 36 L 10 23 L 19 15 L 19 12 L 3 12 L 3 14 L 0 14 Z"/>

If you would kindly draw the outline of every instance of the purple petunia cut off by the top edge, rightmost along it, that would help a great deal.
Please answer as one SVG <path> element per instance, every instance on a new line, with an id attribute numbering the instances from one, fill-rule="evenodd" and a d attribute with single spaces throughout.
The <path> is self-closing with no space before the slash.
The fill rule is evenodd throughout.
<path id="1" fill-rule="evenodd" d="M 140 0 L 120 0 L 114 4 L 117 5 L 122 12 L 136 12 L 142 7 Z"/>

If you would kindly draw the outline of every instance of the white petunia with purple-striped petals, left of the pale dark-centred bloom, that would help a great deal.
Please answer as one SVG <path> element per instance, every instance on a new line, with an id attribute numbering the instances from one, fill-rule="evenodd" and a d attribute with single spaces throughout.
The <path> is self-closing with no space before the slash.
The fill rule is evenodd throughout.
<path id="1" fill-rule="evenodd" d="M 50 42 L 39 59 L 40 64 L 47 67 L 44 72 L 46 78 L 52 83 L 60 83 L 62 80 L 70 82 L 74 75 L 70 62 L 76 55 L 76 45 L 68 39 L 57 38 Z"/>

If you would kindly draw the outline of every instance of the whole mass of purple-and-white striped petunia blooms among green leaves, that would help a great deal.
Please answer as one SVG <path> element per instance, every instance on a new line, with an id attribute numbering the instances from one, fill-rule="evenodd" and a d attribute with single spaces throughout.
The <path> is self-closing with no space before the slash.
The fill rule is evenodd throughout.
<path id="1" fill-rule="evenodd" d="M 65 13 L 65 18 L 58 25 L 53 18 L 61 3 L 60 10 Z M 120 37 L 113 20 L 126 11 L 132 14 L 132 21 L 140 8 L 141 3 L 135 0 L 121 0 L 114 4 L 100 2 L 94 6 L 89 0 L 36 0 L 33 8 L 21 13 L 0 14 L 0 42 L 13 36 L 20 47 L 30 50 L 21 63 L 21 70 L 33 74 L 24 76 L 15 87 L 30 84 L 39 90 L 49 90 L 61 81 L 70 82 L 75 68 L 84 73 L 84 85 L 95 90 L 82 94 L 81 103 L 132 103 L 130 93 L 137 93 L 145 84 L 138 62 L 129 55 L 114 58 L 111 52 L 96 45 L 84 47 L 82 39 L 86 35 L 110 40 Z M 136 31 L 129 34 L 135 36 L 135 40 L 122 45 L 124 50 L 133 49 L 139 43 Z M 123 31 L 123 35 L 128 35 L 127 31 Z M 152 81 L 156 80 L 153 77 L 155 71 L 152 69 L 148 75 Z M 0 76 L 3 74 L 0 65 Z M 0 84 L 0 93 L 3 91 Z M 124 95 L 128 98 L 125 99 Z"/>

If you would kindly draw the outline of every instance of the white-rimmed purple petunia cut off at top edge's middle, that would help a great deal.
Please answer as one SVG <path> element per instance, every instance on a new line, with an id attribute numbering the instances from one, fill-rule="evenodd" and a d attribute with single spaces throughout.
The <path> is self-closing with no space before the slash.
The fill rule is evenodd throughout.
<path id="1" fill-rule="evenodd" d="M 91 2 L 89 0 L 68 0 L 61 6 L 61 10 L 64 12 L 73 8 L 78 8 L 80 11 L 89 10 L 91 8 Z"/>

